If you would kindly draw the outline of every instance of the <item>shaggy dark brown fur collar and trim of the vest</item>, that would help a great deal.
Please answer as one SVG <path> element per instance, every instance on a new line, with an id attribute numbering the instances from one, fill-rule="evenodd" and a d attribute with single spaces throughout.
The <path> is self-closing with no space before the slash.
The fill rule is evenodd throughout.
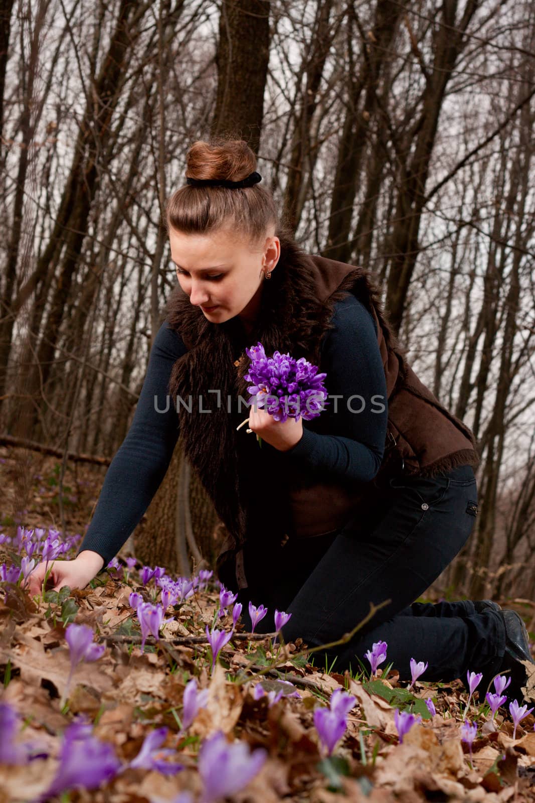
<path id="1" fill-rule="evenodd" d="M 261 312 L 249 336 L 245 335 L 237 317 L 223 324 L 211 323 L 201 308 L 189 303 L 180 285 L 172 291 L 165 309 L 169 325 L 180 333 L 188 348 L 173 365 L 168 384 L 173 403 L 176 405 L 177 397 L 184 400 L 177 408 L 184 454 L 197 471 L 235 544 L 245 541 L 246 531 L 245 484 L 240 479 L 243 462 L 239 454 L 241 445 L 246 442 L 249 446 L 253 438 L 245 434 L 245 427 L 239 432 L 236 430 L 247 418 L 246 406 L 239 413 L 237 410 L 240 395 L 244 402 L 249 399 L 249 382 L 243 378 L 250 362 L 245 346 L 250 347 L 260 340 L 268 355 L 276 350 L 290 352 L 296 358 L 306 357 L 319 365 L 322 337 L 332 328 L 330 318 L 334 304 L 350 291 L 354 291 L 367 308 L 375 308 L 379 341 L 384 340 L 385 360 L 388 359 L 387 343 L 397 344 L 383 319 L 379 289 L 371 282 L 367 271 L 306 255 L 294 240 L 282 234 L 278 236 L 281 255 L 271 279 L 263 284 Z M 240 365 L 234 365 L 242 353 Z M 403 357 L 400 359 L 403 362 Z M 397 374 L 396 365 L 395 377 Z M 210 390 L 221 391 L 219 406 L 217 393 L 209 393 Z M 191 413 L 185 406 L 190 395 Z M 202 410 L 210 410 L 209 413 L 201 412 L 200 397 Z M 230 412 L 229 398 L 232 400 Z M 249 471 L 254 468 L 249 466 Z"/>

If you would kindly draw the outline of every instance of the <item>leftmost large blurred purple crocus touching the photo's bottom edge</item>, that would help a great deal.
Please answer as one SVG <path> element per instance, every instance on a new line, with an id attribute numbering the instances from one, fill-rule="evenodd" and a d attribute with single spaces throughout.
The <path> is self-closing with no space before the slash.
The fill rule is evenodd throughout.
<path id="1" fill-rule="evenodd" d="M 63 733 L 59 768 L 51 785 L 38 800 L 45 803 L 68 789 L 96 789 L 120 771 L 120 760 L 108 742 L 91 733 L 91 725 L 75 721 Z"/>

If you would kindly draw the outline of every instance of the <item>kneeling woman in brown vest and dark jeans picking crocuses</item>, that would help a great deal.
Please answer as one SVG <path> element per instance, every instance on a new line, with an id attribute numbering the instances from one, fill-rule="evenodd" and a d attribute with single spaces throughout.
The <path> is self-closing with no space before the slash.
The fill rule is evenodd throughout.
<path id="1" fill-rule="evenodd" d="M 516 613 L 490 601 L 414 602 L 472 531 L 472 432 L 407 364 L 367 271 L 304 254 L 255 167 L 243 141 L 189 150 L 187 185 L 167 206 L 179 286 L 72 562 L 85 565 L 88 582 L 116 555 L 180 432 L 225 524 L 217 572 L 245 603 L 246 629 L 250 600 L 270 609 L 257 631 L 272 631 L 271 614 L 284 609 L 292 617 L 283 637 L 316 646 L 355 628 L 370 603 L 386 603 L 327 652 L 336 670 L 355 670 L 372 642 L 386 641 L 402 679 L 411 657 L 428 662 L 424 680 L 470 670 L 488 682 L 510 670 L 521 700 L 521 659 L 531 658 Z M 326 410 L 305 425 L 249 410 L 245 347 L 257 342 L 268 356 L 289 352 L 326 372 Z M 247 417 L 249 433 L 238 429 Z"/>

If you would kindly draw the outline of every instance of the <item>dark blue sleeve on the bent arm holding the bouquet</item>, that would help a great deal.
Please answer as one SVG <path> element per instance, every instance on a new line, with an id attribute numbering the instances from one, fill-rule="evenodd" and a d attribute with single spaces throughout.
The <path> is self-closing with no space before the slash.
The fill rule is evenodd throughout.
<path id="1" fill-rule="evenodd" d="M 355 296 L 348 296 L 335 305 L 332 322 L 320 367 L 326 372 L 330 405 L 318 418 L 303 421 L 302 438 L 282 455 L 318 479 L 366 483 L 383 460 L 388 418 L 375 321 Z M 323 416 L 328 418 L 320 422 Z M 314 431 L 316 422 L 328 432 Z"/>

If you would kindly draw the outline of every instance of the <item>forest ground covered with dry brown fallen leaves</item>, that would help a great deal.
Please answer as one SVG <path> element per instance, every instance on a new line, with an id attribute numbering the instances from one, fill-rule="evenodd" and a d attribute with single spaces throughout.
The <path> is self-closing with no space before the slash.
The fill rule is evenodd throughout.
<path id="1" fill-rule="evenodd" d="M 85 463 L 67 471 L 63 487 L 66 536 L 85 532 L 104 473 L 105 468 Z M 61 530 L 58 476 L 58 459 L 0 447 L 0 534 L 15 539 L 18 526 Z M 5 561 L 7 569 L 20 565 L 24 554 L 9 540 L 0 544 L 0 564 Z M 224 798 L 237 803 L 535 801 L 533 714 L 521 719 L 514 733 L 508 707 L 499 708 L 492 719 L 484 700 L 486 690 L 476 691 L 466 710 L 468 695 L 460 680 L 416 681 L 409 691 L 395 670 L 388 670 L 387 662 L 384 675 L 379 667 L 374 679 L 369 667 L 358 666 L 354 674 L 326 671 L 327 667 L 315 665 L 314 656 L 299 639 L 275 652 L 273 637 L 245 634 L 239 620 L 213 667 L 205 627 L 217 622 L 220 630 L 232 629 L 231 610 L 217 618 L 220 598 L 213 578 L 181 604 L 169 605 L 165 613 L 169 621 L 157 640 L 148 636 L 142 651 L 140 622 L 130 594 L 137 592 L 156 605 L 160 589 L 154 579 L 143 582 L 140 565 L 127 569 L 123 557 L 120 552 L 120 569 L 104 569 L 86 589 L 47 591 L 44 599 L 30 597 L 20 579 L 0 583 L 4 591 L 0 708 L 5 703 L 17 715 L 10 744 L 33 748 L 31 760 L 2 764 L 6 741 L 0 747 L 0 803 L 213 803 Z M 533 611 L 521 605 L 517 609 L 533 626 L 527 617 Z M 105 650 L 95 661 L 80 662 L 68 686 L 71 653 L 66 629 L 73 622 L 90 627 L 92 638 Z M 193 723 L 182 729 L 184 688 L 193 678 L 200 690 L 206 690 L 206 699 Z M 282 680 L 291 686 L 283 686 Z M 529 707 L 535 705 L 535 677 L 532 681 Z M 260 683 L 265 691 L 261 696 L 259 689 L 254 691 Z M 334 707 L 332 695 L 337 689 L 354 701 L 330 751 L 314 711 Z M 276 691 L 285 695 L 273 702 L 274 695 L 267 693 Z M 289 691 L 298 695 L 289 696 Z M 416 717 L 403 740 L 396 711 Z M 80 755 L 72 752 L 72 743 L 63 736 L 76 715 L 85 716 L 91 726 L 91 734 L 84 737 L 87 742 L 82 742 L 87 766 L 95 745 L 102 743 L 121 764 L 120 772 L 95 789 L 87 773 L 76 781 L 76 768 L 67 767 L 69 756 Z M 472 754 L 462 739 L 465 722 L 477 728 Z M 2 728 L 0 736 L 5 739 L 5 715 L 3 719 L 0 715 Z M 144 739 L 155 736 L 155 728 L 164 728 L 164 741 L 157 748 L 152 744 L 151 753 Z M 234 748 L 241 744 L 243 751 L 227 756 L 233 778 L 226 788 L 225 763 L 218 764 L 220 759 L 212 753 L 218 777 L 210 781 L 206 759 L 204 766 L 202 758 L 198 760 L 203 745 L 219 731 Z M 142 744 L 148 755 L 144 768 L 127 767 Z M 180 763 L 180 772 L 164 766 L 165 748 L 170 760 Z M 245 754 L 258 748 L 265 750 L 265 759 L 240 788 Z M 53 782 L 55 793 L 48 795 Z M 219 792 L 214 783 L 220 784 Z"/>

